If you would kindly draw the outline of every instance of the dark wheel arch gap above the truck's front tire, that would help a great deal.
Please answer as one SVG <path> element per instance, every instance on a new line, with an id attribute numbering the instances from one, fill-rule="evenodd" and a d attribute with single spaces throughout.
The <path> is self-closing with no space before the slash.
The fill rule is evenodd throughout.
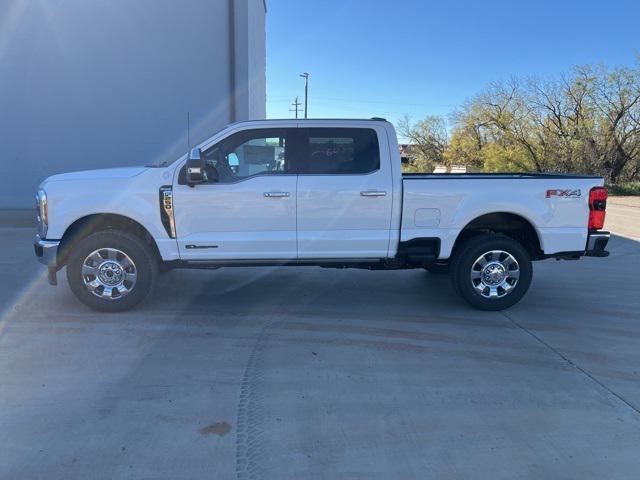
<path id="1" fill-rule="evenodd" d="M 162 257 L 158 245 L 149 231 L 138 221 L 115 213 L 93 213 L 78 218 L 67 227 L 58 247 L 58 268 L 66 265 L 74 245 L 92 233 L 105 230 L 120 230 L 135 235 L 151 249 L 158 263 Z"/>

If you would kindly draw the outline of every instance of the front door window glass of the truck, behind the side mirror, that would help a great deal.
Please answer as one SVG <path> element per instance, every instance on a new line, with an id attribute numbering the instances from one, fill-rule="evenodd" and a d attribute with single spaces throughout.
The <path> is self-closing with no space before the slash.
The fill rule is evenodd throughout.
<path id="1" fill-rule="evenodd" d="M 246 130 L 203 152 L 208 183 L 232 183 L 255 175 L 291 173 L 286 157 L 287 131 Z"/>

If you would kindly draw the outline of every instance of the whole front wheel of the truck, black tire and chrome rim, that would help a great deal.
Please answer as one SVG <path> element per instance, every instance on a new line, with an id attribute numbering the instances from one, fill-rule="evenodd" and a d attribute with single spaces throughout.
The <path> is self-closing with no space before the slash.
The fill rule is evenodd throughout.
<path id="1" fill-rule="evenodd" d="M 157 262 L 138 237 L 116 230 L 80 240 L 67 262 L 67 280 L 82 303 L 122 312 L 143 301 L 155 283 Z"/>

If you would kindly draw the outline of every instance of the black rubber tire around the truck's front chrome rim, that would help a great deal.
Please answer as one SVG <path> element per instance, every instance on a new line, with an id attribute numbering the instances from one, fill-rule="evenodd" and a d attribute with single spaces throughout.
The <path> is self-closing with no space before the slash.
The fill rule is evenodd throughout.
<path id="1" fill-rule="evenodd" d="M 101 249 L 119 250 L 135 265 L 135 284 L 124 296 L 102 298 L 92 293 L 85 285 L 83 263 L 92 252 Z M 149 295 L 157 275 L 158 262 L 149 246 L 135 235 L 119 230 L 105 230 L 83 238 L 74 246 L 67 262 L 67 280 L 71 291 L 82 303 L 101 312 L 123 312 L 135 307 Z"/>

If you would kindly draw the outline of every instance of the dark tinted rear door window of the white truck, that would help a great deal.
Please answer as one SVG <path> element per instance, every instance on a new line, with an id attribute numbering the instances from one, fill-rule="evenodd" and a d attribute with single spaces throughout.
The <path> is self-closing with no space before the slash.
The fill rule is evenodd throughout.
<path id="1" fill-rule="evenodd" d="M 353 175 L 380 169 L 378 135 L 370 128 L 304 128 L 301 174 Z"/>

